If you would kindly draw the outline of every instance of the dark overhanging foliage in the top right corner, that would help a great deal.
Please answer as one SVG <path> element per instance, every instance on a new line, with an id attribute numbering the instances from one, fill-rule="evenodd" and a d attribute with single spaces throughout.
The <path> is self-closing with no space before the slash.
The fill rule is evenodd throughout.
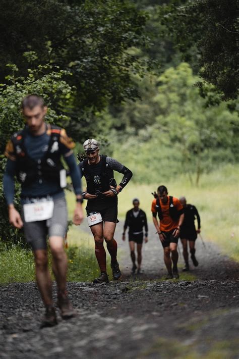
<path id="1" fill-rule="evenodd" d="M 236 0 L 188 1 L 185 6 L 176 1 L 158 8 L 160 22 L 183 60 L 190 62 L 194 49 L 200 76 L 222 92 L 223 99 L 238 95 L 236 14 Z M 201 81 L 201 87 L 204 84 Z"/>

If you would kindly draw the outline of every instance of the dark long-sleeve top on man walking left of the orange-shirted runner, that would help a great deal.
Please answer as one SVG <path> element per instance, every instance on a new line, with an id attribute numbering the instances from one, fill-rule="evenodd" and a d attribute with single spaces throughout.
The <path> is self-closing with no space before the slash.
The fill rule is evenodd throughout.
<path id="1" fill-rule="evenodd" d="M 138 216 L 134 216 L 134 209 L 131 209 L 126 214 L 126 220 L 124 224 L 124 232 L 126 231 L 127 227 L 129 227 L 129 233 L 141 233 L 143 232 L 143 227 L 145 229 L 145 236 L 148 235 L 148 223 L 147 217 L 144 211 L 139 210 Z"/>

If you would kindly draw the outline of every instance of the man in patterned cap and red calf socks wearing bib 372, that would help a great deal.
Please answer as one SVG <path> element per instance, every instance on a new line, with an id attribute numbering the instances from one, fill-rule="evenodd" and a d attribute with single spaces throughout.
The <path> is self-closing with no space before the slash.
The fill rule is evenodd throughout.
<path id="1" fill-rule="evenodd" d="M 127 185 L 132 172 L 120 162 L 104 155 L 99 155 L 99 144 L 95 139 L 88 139 L 83 144 L 86 159 L 79 164 L 86 178 L 87 189 L 83 197 L 88 199 L 87 218 L 95 239 L 95 255 L 100 268 L 100 275 L 94 283 L 108 283 L 106 272 L 106 252 L 104 240 L 111 257 L 113 279 L 121 279 L 121 271 L 117 262 L 117 242 L 114 230 L 117 223 L 117 195 Z M 124 174 L 117 186 L 113 171 Z"/>

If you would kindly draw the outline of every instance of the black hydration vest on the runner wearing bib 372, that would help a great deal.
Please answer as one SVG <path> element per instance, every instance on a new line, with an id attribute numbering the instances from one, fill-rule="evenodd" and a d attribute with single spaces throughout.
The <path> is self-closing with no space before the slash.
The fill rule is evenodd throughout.
<path id="1" fill-rule="evenodd" d="M 98 191 L 106 192 L 110 186 L 116 187 L 116 182 L 113 178 L 113 170 L 106 163 L 105 155 L 100 155 L 100 162 L 96 164 L 97 173 L 94 173 L 94 165 L 88 164 L 88 159 L 83 161 L 82 172 L 87 183 L 87 192 L 95 194 Z"/>

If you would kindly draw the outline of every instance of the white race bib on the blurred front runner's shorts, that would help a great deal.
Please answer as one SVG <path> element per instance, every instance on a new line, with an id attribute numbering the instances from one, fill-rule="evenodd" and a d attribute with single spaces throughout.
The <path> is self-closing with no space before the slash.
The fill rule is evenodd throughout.
<path id="1" fill-rule="evenodd" d="M 54 209 L 53 200 L 38 201 L 23 205 L 25 222 L 44 221 L 52 217 Z"/>

